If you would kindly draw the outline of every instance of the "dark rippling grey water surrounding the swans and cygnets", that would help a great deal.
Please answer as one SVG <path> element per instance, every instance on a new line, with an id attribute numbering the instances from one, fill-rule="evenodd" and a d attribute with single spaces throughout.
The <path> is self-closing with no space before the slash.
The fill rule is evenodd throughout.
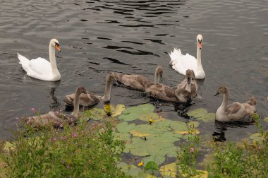
<path id="1" fill-rule="evenodd" d="M 205 107 L 216 112 L 222 96 L 214 97 L 219 84 L 229 86 L 230 102 L 257 97 L 257 112 L 268 116 L 268 1 L 47 1 L 0 2 L 0 138 L 11 136 L 16 117 L 31 116 L 31 107 L 42 112 L 63 109 L 63 97 L 78 85 L 102 95 L 110 71 L 140 73 L 153 79 L 164 67 L 162 83 L 175 86 L 184 76 L 169 67 L 173 47 L 196 56 L 195 37 L 202 34 L 201 81 L 203 99 L 188 109 Z M 48 59 L 48 44 L 56 37 L 61 81 L 38 81 L 25 75 L 16 53 Z M 54 92 L 51 90 L 54 90 Z M 56 105 L 55 100 L 59 102 Z M 153 102 L 142 93 L 114 87 L 113 104 L 126 106 Z M 102 105 L 102 104 L 100 104 Z M 186 121 L 179 106 L 162 103 L 162 115 Z M 266 126 L 267 127 L 267 126 Z M 254 126 L 201 124 L 203 134 L 240 140 Z"/>

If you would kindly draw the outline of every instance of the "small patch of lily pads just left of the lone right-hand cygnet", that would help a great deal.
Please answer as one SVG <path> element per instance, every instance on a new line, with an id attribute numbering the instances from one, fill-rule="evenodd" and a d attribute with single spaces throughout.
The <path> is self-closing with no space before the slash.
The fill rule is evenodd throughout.
<path id="1" fill-rule="evenodd" d="M 194 117 L 197 120 L 202 120 L 205 123 L 215 121 L 215 113 L 208 113 L 207 109 L 198 108 L 193 111 L 187 112 L 189 117 Z"/>

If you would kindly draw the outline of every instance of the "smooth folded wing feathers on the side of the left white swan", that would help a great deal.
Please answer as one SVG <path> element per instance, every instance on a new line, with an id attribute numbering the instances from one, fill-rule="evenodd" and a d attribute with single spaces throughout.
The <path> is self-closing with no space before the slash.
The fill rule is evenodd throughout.
<path id="1" fill-rule="evenodd" d="M 51 64 L 41 57 L 32 59 L 29 61 L 29 72 L 46 76 L 48 73 L 52 73 Z"/>

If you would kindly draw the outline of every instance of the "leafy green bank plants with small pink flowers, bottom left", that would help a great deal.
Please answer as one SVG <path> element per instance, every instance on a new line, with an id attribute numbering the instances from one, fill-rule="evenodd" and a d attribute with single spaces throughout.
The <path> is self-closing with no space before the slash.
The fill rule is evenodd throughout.
<path id="1" fill-rule="evenodd" d="M 30 126 L 15 132 L 15 149 L 2 151 L 6 177 L 124 177 L 116 167 L 124 148 L 110 124 L 99 130 L 64 125 L 35 131 Z"/>

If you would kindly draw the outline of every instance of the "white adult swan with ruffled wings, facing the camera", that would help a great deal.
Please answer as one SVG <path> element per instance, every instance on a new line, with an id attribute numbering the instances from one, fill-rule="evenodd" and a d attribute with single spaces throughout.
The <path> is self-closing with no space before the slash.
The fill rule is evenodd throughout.
<path id="1" fill-rule="evenodd" d="M 205 78 L 205 72 L 201 64 L 201 49 L 202 49 L 202 35 L 197 35 L 197 59 L 190 54 L 181 54 L 181 49 L 174 48 L 173 52 L 169 54 L 171 58 L 170 64 L 172 68 L 183 75 L 186 75 L 187 69 L 192 69 L 195 72 L 195 78 Z"/>

